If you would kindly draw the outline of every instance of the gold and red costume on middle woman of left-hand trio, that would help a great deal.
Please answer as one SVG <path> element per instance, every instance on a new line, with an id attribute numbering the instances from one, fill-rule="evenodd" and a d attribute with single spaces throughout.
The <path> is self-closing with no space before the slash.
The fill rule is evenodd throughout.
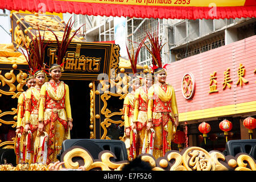
<path id="1" fill-rule="evenodd" d="M 40 101 L 40 87 L 35 86 L 28 89 L 27 96 L 26 96 L 25 121 L 26 121 L 26 124 L 29 123 L 30 131 L 32 133 L 31 142 L 30 142 L 31 158 L 28 161 L 29 164 L 36 162 L 36 159 L 34 159 L 34 157 L 36 158 L 36 155 L 34 156 L 34 143 L 35 143 L 36 135 L 38 133 L 39 101 Z"/>

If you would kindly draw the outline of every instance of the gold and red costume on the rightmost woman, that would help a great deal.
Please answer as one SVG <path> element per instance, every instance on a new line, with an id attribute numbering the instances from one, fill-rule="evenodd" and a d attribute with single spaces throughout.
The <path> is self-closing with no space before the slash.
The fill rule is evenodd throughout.
<path id="1" fill-rule="evenodd" d="M 148 89 L 148 121 L 152 120 L 155 130 L 153 156 L 158 159 L 171 150 L 176 127 L 174 117 L 178 116 L 174 88 L 170 84 L 154 84 Z"/>

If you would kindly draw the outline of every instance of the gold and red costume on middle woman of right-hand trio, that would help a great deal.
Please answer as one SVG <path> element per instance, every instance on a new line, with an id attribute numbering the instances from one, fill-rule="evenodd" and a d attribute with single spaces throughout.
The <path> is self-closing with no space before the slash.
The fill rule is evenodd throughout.
<path id="1" fill-rule="evenodd" d="M 142 153 L 147 125 L 147 87 L 141 86 L 134 96 L 134 122 L 137 125 L 137 155 Z"/>

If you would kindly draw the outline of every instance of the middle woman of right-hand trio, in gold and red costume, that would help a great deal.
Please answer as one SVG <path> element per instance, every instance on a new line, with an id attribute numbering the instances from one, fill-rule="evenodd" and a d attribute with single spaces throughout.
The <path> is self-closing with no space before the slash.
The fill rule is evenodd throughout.
<path id="1" fill-rule="evenodd" d="M 147 134 L 147 94 L 152 82 L 154 82 L 154 74 L 150 71 L 144 73 L 143 82 L 143 86 L 135 91 L 134 96 L 133 121 L 136 122 L 135 128 L 137 129 L 137 154 L 146 153 L 143 143 L 146 142 L 144 143 L 144 147 L 147 147 L 147 141 L 144 141 L 145 135 Z M 142 148 L 144 151 L 142 151 Z"/>

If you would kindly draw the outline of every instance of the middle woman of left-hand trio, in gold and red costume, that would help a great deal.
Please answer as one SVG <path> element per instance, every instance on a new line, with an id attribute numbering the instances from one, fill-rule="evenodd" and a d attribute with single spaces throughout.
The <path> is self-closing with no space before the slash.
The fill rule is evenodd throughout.
<path id="1" fill-rule="evenodd" d="M 38 135 L 38 109 L 39 109 L 39 101 L 40 101 L 40 90 L 44 82 L 46 82 L 46 73 L 42 70 L 35 72 L 35 80 L 36 86 L 27 90 L 26 96 L 26 112 L 25 112 L 25 121 L 26 126 L 24 127 L 24 131 L 31 131 L 31 156 L 28 160 L 28 163 L 36 162 L 36 154 L 34 151 L 34 143 L 36 136 Z M 28 150 L 28 148 L 27 148 Z"/>

